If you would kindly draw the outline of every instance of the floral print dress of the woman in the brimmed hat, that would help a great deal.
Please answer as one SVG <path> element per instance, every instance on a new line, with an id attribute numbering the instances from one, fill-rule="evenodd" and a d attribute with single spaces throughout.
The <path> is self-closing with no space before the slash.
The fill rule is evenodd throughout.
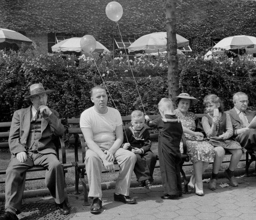
<path id="1" fill-rule="evenodd" d="M 192 131 L 195 131 L 195 120 L 197 116 L 192 112 L 186 112 L 186 114 L 181 114 L 177 110 L 173 112 L 181 121 L 183 127 L 186 127 Z M 190 157 L 192 163 L 197 161 L 204 161 L 204 162 L 213 162 L 215 151 L 214 147 L 206 142 L 206 141 L 196 141 L 195 136 L 190 134 L 184 134 L 187 144 L 187 154 Z M 183 151 L 183 143 L 180 143 L 180 151 Z"/>

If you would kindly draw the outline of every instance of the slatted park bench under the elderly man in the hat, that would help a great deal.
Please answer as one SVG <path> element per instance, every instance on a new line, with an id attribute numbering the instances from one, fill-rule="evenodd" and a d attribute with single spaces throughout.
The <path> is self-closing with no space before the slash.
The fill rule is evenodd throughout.
<path id="1" fill-rule="evenodd" d="M 8 138 L 9 138 L 9 130 L 11 127 L 11 122 L 0 122 L 0 149 L 9 149 L 9 143 L 8 143 Z M 63 173 L 64 177 L 66 172 L 68 172 L 68 168 L 72 167 L 72 163 L 66 163 L 66 149 L 65 149 L 65 144 L 62 136 L 54 136 L 53 137 L 53 143 L 56 147 L 56 152 L 57 152 L 57 158 L 59 159 L 59 154 L 61 154 L 61 163 L 63 165 Z M 59 152 L 61 151 L 61 152 Z M 0 175 L 1 174 L 6 174 L 6 169 L 7 165 L 4 168 L 0 168 Z M 41 170 L 46 170 L 41 166 L 35 166 L 31 167 L 27 170 L 27 172 L 37 172 Z M 44 176 L 39 177 L 39 178 L 30 178 L 26 179 L 28 180 L 42 180 L 44 179 Z M 5 183 L 5 181 L 0 181 L 0 183 Z M 68 202 L 68 194 L 66 190 L 66 184 L 65 184 L 65 189 L 64 189 L 64 194 L 65 194 L 65 201 Z"/>

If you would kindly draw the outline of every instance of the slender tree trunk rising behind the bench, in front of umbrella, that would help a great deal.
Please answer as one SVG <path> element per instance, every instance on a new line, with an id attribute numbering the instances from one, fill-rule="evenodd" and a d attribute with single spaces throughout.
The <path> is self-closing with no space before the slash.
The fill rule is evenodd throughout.
<path id="1" fill-rule="evenodd" d="M 179 95 L 179 72 L 176 38 L 176 0 L 166 0 L 166 32 L 169 98 Z"/>

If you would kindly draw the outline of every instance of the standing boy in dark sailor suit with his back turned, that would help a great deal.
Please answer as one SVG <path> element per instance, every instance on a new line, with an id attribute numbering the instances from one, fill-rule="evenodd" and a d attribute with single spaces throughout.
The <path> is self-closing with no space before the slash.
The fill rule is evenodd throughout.
<path id="1" fill-rule="evenodd" d="M 173 105 L 170 99 L 162 98 L 158 103 L 161 117 L 151 120 L 145 116 L 149 127 L 159 129 L 158 157 L 164 195 L 162 199 L 179 199 L 182 197 L 180 178 L 180 140 L 182 125 L 173 114 Z"/>

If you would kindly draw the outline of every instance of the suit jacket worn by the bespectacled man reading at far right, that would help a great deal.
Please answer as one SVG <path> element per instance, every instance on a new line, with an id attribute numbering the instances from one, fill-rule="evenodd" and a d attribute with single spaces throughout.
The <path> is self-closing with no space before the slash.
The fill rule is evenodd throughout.
<path id="1" fill-rule="evenodd" d="M 231 110 L 227 111 L 226 113 L 229 114 L 231 123 L 233 125 L 233 136 L 238 136 L 238 129 L 244 128 L 243 122 L 239 118 L 239 115 L 237 114 L 235 108 L 232 108 Z M 254 118 L 254 112 L 245 110 L 246 117 L 248 119 L 248 122 L 250 123 L 252 119 Z"/>

